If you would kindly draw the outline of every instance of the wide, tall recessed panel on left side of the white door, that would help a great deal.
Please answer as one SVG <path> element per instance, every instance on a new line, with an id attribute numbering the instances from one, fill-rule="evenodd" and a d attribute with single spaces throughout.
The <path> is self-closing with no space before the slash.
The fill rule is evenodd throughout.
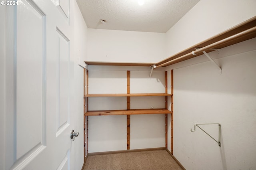
<path id="1" fill-rule="evenodd" d="M 14 117 L 18 160 L 22 156 L 31 156 L 32 150 L 36 151 L 45 145 L 46 22 L 42 10 L 32 2 L 23 1 L 17 8 L 17 98 Z M 30 23 L 33 26 L 28 27 Z"/>

